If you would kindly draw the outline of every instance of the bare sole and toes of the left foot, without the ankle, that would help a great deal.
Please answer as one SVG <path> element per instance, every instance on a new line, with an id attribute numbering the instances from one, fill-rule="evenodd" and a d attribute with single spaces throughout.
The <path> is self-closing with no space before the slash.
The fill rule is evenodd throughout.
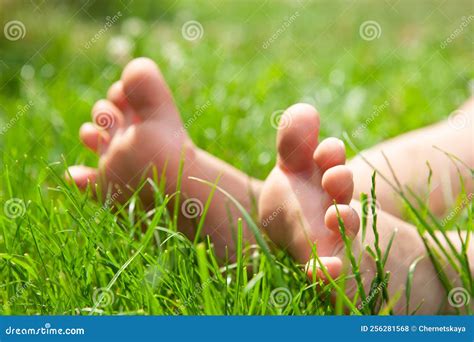
<path id="1" fill-rule="evenodd" d="M 127 186 L 138 185 L 152 163 L 161 170 L 168 161 L 168 171 L 174 174 L 182 150 L 189 154 L 195 150 L 163 77 L 145 58 L 127 65 L 121 81 L 110 87 L 108 99 L 94 105 L 92 119 L 94 123 L 82 125 L 80 137 L 99 153 L 99 169 L 71 167 L 80 188 L 104 181 L 127 191 Z M 170 191 L 174 181 L 171 177 L 167 182 Z M 141 199 L 145 205 L 153 201 L 150 192 L 141 194 Z"/>

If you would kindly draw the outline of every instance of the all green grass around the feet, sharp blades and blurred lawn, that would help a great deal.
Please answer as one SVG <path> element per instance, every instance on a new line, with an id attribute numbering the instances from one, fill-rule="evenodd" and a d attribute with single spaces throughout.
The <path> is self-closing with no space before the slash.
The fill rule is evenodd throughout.
<path id="1" fill-rule="evenodd" d="M 275 162 L 272 113 L 298 101 L 317 106 L 322 136 L 347 132 L 358 148 L 436 122 L 469 96 L 472 28 L 440 47 L 469 13 L 469 2 L 127 3 L 2 3 L 2 27 L 20 20 L 26 35 L 0 36 L 0 127 L 6 127 L 0 200 L 3 207 L 20 199 L 20 211 L 24 205 L 16 218 L 0 215 L 1 312 L 359 313 L 353 298 L 330 302 L 330 291 L 343 293 L 343 282 L 311 284 L 283 252 L 239 245 L 251 253 L 218 263 L 206 238 L 194 243 L 176 232 L 175 216 L 165 209 L 173 197 L 157 191 L 149 214 L 135 198 L 133 209 L 111 212 L 64 182 L 65 165 L 96 164 L 78 129 L 124 63 L 142 55 L 159 63 L 196 144 L 254 177 L 264 178 Z M 86 49 L 118 11 L 120 19 Z M 142 30 L 132 36 L 136 17 Z M 202 24 L 200 40 L 183 39 L 188 20 Z M 367 20 L 379 23 L 378 39 L 361 39 Z M 129 55 L 111 55 L 117 37 L 133 45 Z M 192 120 L 203 105 L 204 114 Z M 472 212 L 471 202 L 449 227 L 472 229 Z M 420 232 L 440 229 L 429 213 L 409 213 Z M 377 287 L 385 275 L 374 248 Z M 437 260 L 439 252 L 432 253 Z M 472 289 L 465 259 L 450 255 Z M 390 299 L 381 302 L 376 298 L 362 313 L 388 313 Z"/>

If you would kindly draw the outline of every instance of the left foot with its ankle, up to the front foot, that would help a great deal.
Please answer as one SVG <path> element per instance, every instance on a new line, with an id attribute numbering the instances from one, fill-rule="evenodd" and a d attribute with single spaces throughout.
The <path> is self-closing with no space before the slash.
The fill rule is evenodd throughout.
<path id="1" fill-rule="evenodd" d="M 205 115 L 205 113 L 203 114 Z M 93 110 L 93 123 L 81 127 L 84 145 L 100 155 L 99 168 L 73 166 L 69 169 L 80 188 L 98 183 L 103 192 L 108 189 L 119 201 L 125 201 L 140 181 L 152 177 L 151 166 L 158 176 L 166 171 L 166 194 L 176 192 L 180 160 L 184 160 L 181 184 L 180 228 L 193 236 L 203 205 L 211 188 L 190 180 L 190 176 L 214 182 L 220 176 L 219 186 L 237 195 L 247 210 L 251 196 L 258 196 L 260 183 L 197 148 L 184 129 L 171 92 L 154 62 L 138 58 L 130 62 L 122 78 L 111 86 L 107 100 L 98 101 Z M 119 190 L 118 190 L 119 189 Z M 118 196 L 120 195 L 120 196 Z M 151 186 L 145 186 L 140 198 L 146 207 L 152 207 L 154 195 Z M 186 201 L 186 199 L 188 201 Z M 171 201 L 173 202 L 173 201 Z M 229 220 L 229 211 L 232 220 Z M 233 250 L 231 227 L 239 213 L 217 192 L 206 215 L 204 234 L 212 236 L 218 254 L 224 255 L 225 246 Z M 248 232 L 247 238 L 251 240 Z"/>

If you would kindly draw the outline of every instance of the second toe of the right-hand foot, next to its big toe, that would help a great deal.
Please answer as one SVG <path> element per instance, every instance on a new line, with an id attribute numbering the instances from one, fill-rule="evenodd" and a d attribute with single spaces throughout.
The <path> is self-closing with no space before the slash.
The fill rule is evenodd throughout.
<path id="1" fill-rule="evenodd" d="M 313 159 L 321 172 L 346 162 L 346 149 L 342 140 L 337 138 L 324 139 L 314 151 Z"/>

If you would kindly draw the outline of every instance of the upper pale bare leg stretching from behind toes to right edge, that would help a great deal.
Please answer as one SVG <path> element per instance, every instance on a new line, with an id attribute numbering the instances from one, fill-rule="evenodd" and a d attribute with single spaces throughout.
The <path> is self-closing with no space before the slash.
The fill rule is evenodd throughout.
<path id="1" fill-rule="evenodd" d="M 383 142 L 362 152 L 362 155 L 392 183 L 394 179 L 383 157 L 387 156 L 402 186 L 410 187 L 422 198 L 428 198 L 429 207 L 436 215 L 443 215 L 459 194 L 461 185 L 454 164 L 439 149 L 449 152 L 474 168 L 474 98 L 469 99 L 449 120 L 421 128 Z M 433 170 L 432 186 L 428 187 L 429 163 Z M 360 156 L 348 163 L 354 173 L 354 198 L 361 192 L 370 193 L 373 168 Z M 466 191 L 474 189 L 473 177 L 465 166 L 460 166 Z M 377 176 L 377 199 L 381 208 L 392 215 L 402 216 L 400 197 L 389 184 Z"/>

